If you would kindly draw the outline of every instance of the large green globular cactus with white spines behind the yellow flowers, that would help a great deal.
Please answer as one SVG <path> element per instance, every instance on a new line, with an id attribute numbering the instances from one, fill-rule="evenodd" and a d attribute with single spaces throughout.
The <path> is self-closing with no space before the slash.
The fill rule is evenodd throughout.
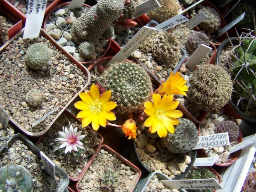
<path id="1" fill-rule="evenodd" d="M 116 62 L 102 73 L 99 82 L 103 88 L 112 91 L 111 99 L 124 113 L 135 112 L 149 100 L 152 83 L 147 71 L 132 62 Z"/>

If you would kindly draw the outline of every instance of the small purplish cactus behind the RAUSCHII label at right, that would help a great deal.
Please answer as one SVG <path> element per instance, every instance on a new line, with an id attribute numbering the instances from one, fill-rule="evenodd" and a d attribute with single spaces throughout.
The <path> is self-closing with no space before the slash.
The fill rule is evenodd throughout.
<path id="1" fill-rule="evenodd" d="M 230 142 L 237 141 L 239 126 L 234 121 L 223 121 L 216 126 L 216 133 L 228 132 Z"/>

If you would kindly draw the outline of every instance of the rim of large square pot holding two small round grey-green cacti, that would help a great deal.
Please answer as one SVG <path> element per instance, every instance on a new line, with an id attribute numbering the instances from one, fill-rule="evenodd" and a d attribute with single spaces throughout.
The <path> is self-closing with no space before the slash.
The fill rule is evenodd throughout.
<path id="1" fill-rule="evenodd" d="M 16 36 L 14 36 L 12 39 L 10 39 L 5 46 L 0 47 L 0 52 L 2 52 L 10 43 L 12 43 L 12 41 L 14 39 L 16 39 L 17 37 L 21 36 L 24 32 L 24 29 L 22 29 L 19 33 L 17 33 Z M 64 55 L 66 55 L 66 57 L 68 57 L 70 62 L 73 62 L 74 64 L 76 64 L 76 66 L 78 66 L 78 68 L 81 69 L 81 71 L 85 74 L 85 77 L 87 78 L 87 82 L 85 82 L 85 86 L 83 86 L 83 88 L 81 88 L 81 90 L 74 95 L 74 97 L 69 100 L 67 102 L 67 104 L 65 106 L 63 106 L 63 108 L 61 109 L 61 111 L 59 112 L 59 114 L 57 114 L 55 116 L 55 118 L 51 121 L 51 123 L 45 128 L 45 130 L 40 131 L 38 133 L 34 133 L 34 132 L 30 132 L 28 130 L 26 130 L 25 128 L 23 128 L 17 121 L 15 121 L 12 116 L 10 117 L 10 123 L 12 125 L 14 125 L 19 131 L 21 131 L 22 133 L 26 134 L 29 137 L 40 137 L 41 135 L 43 135 L 44 133 L 47 132 L 47 130 L 52 126 L 52 124 L 56 121 L 56 119 L 59 117 L 59 115 L 66 109 L 66 107 L 68 107 L 68 105 L 74 100 L 74 98 L 76 96 L 78 96 L 78 94 L 80 92 L 83 92 L 83 90 L 85 89 L 85 87 L 89 84 L 90 82 L 90 72 L 88 71 L 88 69 L 85 68 L 85 66 L 83 66 L 81 63 L 79 63 L 76 59 L 74 59 L 68 52 L 66 52 L 66 50 L 63 50 L 62 47 L 56 43 L 55 40 L 53 40 L 53 38 L 51 38 L 49 35 L 47 35 L 47 33 L 41 29 L 40 31 L 40 36 L 43 36 L 44 38 L 46 38 L 47 40 L 49 40 L 52 45 L 54 45 L 58 50 L 60 50 Z M 59 106 L 61 107 L 61 106 Z"/>

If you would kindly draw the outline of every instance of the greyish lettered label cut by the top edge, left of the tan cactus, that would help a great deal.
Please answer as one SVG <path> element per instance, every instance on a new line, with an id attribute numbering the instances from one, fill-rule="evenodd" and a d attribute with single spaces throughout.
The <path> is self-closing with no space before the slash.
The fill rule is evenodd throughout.
<path id="1" fill-rule="evenodd" d="M 145 2 L 142 2 L 140 5 L 135 6 L 134 17 L 137 18 L 160 7 L 161 5 L 157 0 L 147 0 Z"/>

